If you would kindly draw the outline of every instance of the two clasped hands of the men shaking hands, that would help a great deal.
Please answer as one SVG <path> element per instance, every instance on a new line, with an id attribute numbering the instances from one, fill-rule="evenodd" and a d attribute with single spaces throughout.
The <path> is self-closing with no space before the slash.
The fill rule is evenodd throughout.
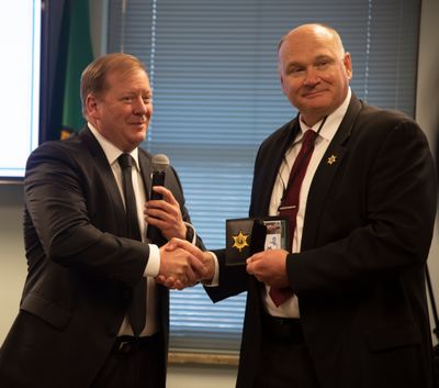
<path id="1" fill-rule="evenodd" d="M 188 241 L 171 239 L 160 247 L 160 268 L 156 281 L 171 289 L 192 287 L 196 282 L 211 281 L 215 274 L 215 260 Z"/>

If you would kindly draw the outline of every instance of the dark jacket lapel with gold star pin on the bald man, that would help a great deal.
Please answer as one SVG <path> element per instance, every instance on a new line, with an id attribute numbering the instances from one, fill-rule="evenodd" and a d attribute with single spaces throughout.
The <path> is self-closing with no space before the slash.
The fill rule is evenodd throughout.
<path id="1" fill-rule="evenodd" d="M 361 102 L 352 93 L 345 118 L 323 156 L 309 188 L 302 235 L 302 251 L 315 245 L 317 232 L 315 225 L 318 224 L 329 188 L 346 155 L 346 143 L 351 135 L 360 110 Z"/>

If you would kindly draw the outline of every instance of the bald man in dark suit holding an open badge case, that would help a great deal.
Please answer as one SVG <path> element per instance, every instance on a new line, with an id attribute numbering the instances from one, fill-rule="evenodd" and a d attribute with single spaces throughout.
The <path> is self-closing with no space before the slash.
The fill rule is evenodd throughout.
<path id="1" fill-rule="evenodd" d="M 218 251 L 218 278 L 212 262 L 209 270 L 214 301 L 248 291 L 236 386 L 431 387 L 425 266 L 437 188 L 426 137 L 354 96 L 350 55 L 330 27 L 288 33 L 279 73 L 300 113 L 260 146 L 249 213 L 294 208 L 292 252 L 226 266 Z M 309 129 L 318 133 L 299 202 L 284 206 Z"/>

